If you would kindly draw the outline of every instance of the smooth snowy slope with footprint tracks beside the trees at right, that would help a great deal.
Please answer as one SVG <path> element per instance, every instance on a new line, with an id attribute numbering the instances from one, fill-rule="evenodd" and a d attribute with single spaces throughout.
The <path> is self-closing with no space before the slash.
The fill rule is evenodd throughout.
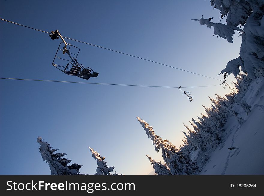
<path id="1" fill-rule="evenodd" d="M 225 128 L 223 143 L 210 154 L 201 175 L 260 175 L 264 174 L 264 78 L 256 78 L 241 101 L 251 105 L 251 112 L 234 104 L 233 110 L 245 121 L 238 123 L 230 117 Z M 235 147 L 238 149 L 229 150 Z"/>

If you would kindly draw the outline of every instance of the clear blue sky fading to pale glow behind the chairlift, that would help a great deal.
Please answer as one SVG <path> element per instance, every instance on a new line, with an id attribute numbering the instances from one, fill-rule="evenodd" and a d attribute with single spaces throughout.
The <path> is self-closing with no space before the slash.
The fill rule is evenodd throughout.
<path id="1" fill-rule="evenodd" d="M 219 22 L 208 1 L 1 1 L 0 17 L 44 31 L 82 40 L 202 75 L 217 76 L 239 56 L 234 43 L 213 37 L 199 25 L 204 18 Z M 80 48 L 79 63 L 99 72 L 88 81 L 52 66 L 59 40 L 48 34 L 0 21 L 0 77 L 157 86 L 204 86 L 220 81 L 193 75 L 137 58 L 66 40 Z M 229 76 L 232 80 L 232 76 Z M 94 174 L 96 160 L 88 146 L 106 157 L 117 173 L 148 174 L 146 154 L 161 161 L 136 117 L 152 125 L 173 144 L 182 144 L 183 123 L 205 113 L 208 96 L 224 95 L 221 86 L 179 89 L 103 86 L 0 80 L 0 174 L 50 174 L 39 153 L 38 136 L 81 173 Z"/>

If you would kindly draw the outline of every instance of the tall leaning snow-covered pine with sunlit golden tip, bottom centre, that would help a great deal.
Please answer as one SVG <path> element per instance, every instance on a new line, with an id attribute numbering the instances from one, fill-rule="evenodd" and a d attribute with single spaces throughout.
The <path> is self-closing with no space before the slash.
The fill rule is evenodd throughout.
<path id="1" fill-rule="evenodd" d="M 146 121 L 137 117 L 147 136 L 152 140 L 155 150 L 162 149 L 162 157 L 172 175 L 190 175 L 199 170 L 198 166 L 176 148 L 169 140 L 164 140 L 155 134 L 155 131 Z"/>

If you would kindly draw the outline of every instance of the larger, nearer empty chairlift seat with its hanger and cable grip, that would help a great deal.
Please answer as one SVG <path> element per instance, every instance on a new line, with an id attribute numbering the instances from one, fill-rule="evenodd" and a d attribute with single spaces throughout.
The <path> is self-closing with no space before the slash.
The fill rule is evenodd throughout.
<path id="1" fill-rule="evenodd" d="M 52 34 L 49 35 L 51 39 L 58 39 L 60 37 L 62 40 L 58 46 L 52 66 L 56 67 L 67 75 L 77 76 L 85 80 L 88 80 L 90 77 L 98 76 L 98 72 L 94 72 L 94 70 L 92 70 L 90 67 L 85 68 L 83 64 L 78 63 L 77 57 L 80 48 L 66 43 L 58 30 L 51 31 L 51 33 Z M 64 56 L 65 53 L 67 53 L 66 57 Z M 65 61 L 68 63 L 66 64 Z"/>

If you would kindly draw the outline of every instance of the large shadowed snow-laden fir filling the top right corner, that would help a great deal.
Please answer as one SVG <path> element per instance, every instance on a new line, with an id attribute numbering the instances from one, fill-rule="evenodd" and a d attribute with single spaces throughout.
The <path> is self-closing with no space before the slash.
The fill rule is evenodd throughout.
<path id="1" fill-rule="evenodd" d="M 263 0 L 211 0 L 211 6 L 226 16 L 227 25 L 211 22 L 212 18 L 199 19 L 201 25 L 214 27 L 214 34 L 233 42 L 234 30 L 241 32 L 239 57 L 229 61 L 221 73 L 239 74 L 239 67 L 248 77 L 264 76 L 264 1 Z M 195 19 L 198 20 L 198 19 Z M 241 30 L 238 26 L 243 26 Z"/>

